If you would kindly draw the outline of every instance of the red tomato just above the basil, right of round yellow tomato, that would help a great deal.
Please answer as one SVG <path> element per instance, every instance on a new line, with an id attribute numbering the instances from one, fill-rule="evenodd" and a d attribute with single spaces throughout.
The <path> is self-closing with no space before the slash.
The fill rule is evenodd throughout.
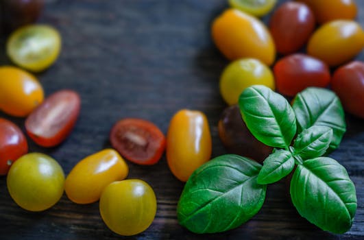
<path id="1" fill-rule="evenodd" d="M 274 66 L 278 92 L 293 97 L 308 86 L 325 87 L 330 82 L 328 66 L 317 58 L 293 54 L 280 59 Z"/>

